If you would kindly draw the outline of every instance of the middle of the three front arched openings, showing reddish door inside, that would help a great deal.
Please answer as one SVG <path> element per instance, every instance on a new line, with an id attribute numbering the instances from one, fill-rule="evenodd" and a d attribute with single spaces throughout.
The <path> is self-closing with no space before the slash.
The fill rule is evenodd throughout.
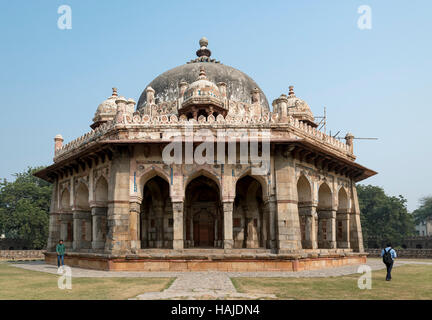
<path id="1" fill-rule="evenodd" d="M 219 195 L 217 183 L 206 176 L 188 183 L 185 200 L 187 247 L 222 247 L 223 212 Z"/>

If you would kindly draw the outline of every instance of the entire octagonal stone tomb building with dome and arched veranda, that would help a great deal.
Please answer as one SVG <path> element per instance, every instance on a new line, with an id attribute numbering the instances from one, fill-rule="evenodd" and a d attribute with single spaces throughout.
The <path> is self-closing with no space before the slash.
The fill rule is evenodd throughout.
<path id="1" fill-rule="evenodd" d="M 48 263 L 59 239 L 66 264 L 106 270 L 365 261 L 355 183 L 376 173 L 355 162 L 354 137 L 341 142 L 319 131 L 293 87 L 271 110 L 255 81 L 212 59 L 207 45 L 201 39 L 195 60 L 154 79 L 137 106 L 114 88 L 89 133 L 68 144 L 54 138 L 54 163 L 36 173 L 54 185 Z M 203 131 L 210 134 L 197 138 Z M 243 146 L 252 152 L 255 143 L 266 161 L 242 158 L 245 136 Z M 180 162 L 166 160 L 174 145 Z M 212 148 L 203 145 L 218 157 L 191 161 L 197 153 L 208 159 Z"/>

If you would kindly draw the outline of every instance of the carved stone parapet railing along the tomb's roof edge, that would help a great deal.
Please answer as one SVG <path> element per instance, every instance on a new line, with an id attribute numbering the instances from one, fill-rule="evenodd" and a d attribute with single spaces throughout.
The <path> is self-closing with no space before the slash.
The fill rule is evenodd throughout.
<path id="1" fill-rule="evenodd" d="M 285 119 L 279 119 L 277 113 L 268 113 L 263 116 L 252 116 L 252 117 L 243 117 L 243 116 L 231 116 L 227 115 L 223 117 L 222 115 L 218 115 L 214 117 L 213 115 L 208 116 L 207 118 L 204 116 L 200 116 L 198 120 L 195 119 L 187 119 L 186 116 L 182 115 L 180 117 L 176 115 L 158 115 L 158 116 L 150 116 L 148 114 L 139 115 L 135 113 L 134 115 L 124 113 L 117 117 L 117 121 L 111 121 L 101 125 L 100 127 L 92 130 L 83 136 L 65 144 L 60 149 L 56 150 L 55 158 L 60 157 L 72 150 L 75 150 L 78 147 L 81 147 L 87 143 L 98 140 L 100 137 L 111 131 L 115 128 L 120 127 L 141 127 L 152 128 L 152 127 L 174 127 L 181 126 L 185 124 L 190 125 L 225 125 L 225 126 L 253 126 L 253 125 L 261 125 L 266 128 L 279 127 L 279 126 L 287 126 L 288 128 L 292 128 L 293 131 L 301 136 L 302 138 L 311 139 L 317 143 L 323 143 L 324 145 L 335 149 L 336 151 L 342 152 L 343 154 L 350 154 L 349 146 L 338 139 L 329 136 L 316 128 L 308 125 L 305 122 L 298 121 L 293 117 L 289 116 Z M 120 120 L 120 121 L 119 121 Z"/>

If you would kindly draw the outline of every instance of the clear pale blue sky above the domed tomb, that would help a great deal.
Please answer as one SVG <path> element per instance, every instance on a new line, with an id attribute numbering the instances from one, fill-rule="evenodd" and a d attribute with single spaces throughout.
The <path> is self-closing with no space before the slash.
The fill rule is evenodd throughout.
<path id="1" fill-rule="evenodd" d="M 57 28 L 60 5 L 72 29 Z M 360 30 L 357 8 L 372 9 Z M 364 181 L 403 195 L 413 210 L 431 195 L 430 1 L 1 1 L 0 177 L 48 165 L 53 137 L 89 131 L 113 86 L 138 100 L 158 74 L 195 57 L 242 70 L 271 103 L 294 85 L 328 130 L 355 141 Z"/>

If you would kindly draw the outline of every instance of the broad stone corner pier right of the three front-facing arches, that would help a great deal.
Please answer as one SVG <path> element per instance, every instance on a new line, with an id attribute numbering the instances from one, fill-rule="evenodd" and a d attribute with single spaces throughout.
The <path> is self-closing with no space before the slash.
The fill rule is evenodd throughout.
<path id="1" fill-rule="evenodd" d="M 279 151 L 275 154 L 277 247 L 279 252 L 298 251 L 302 247 L 294 161 L 286 147 Z"/>

